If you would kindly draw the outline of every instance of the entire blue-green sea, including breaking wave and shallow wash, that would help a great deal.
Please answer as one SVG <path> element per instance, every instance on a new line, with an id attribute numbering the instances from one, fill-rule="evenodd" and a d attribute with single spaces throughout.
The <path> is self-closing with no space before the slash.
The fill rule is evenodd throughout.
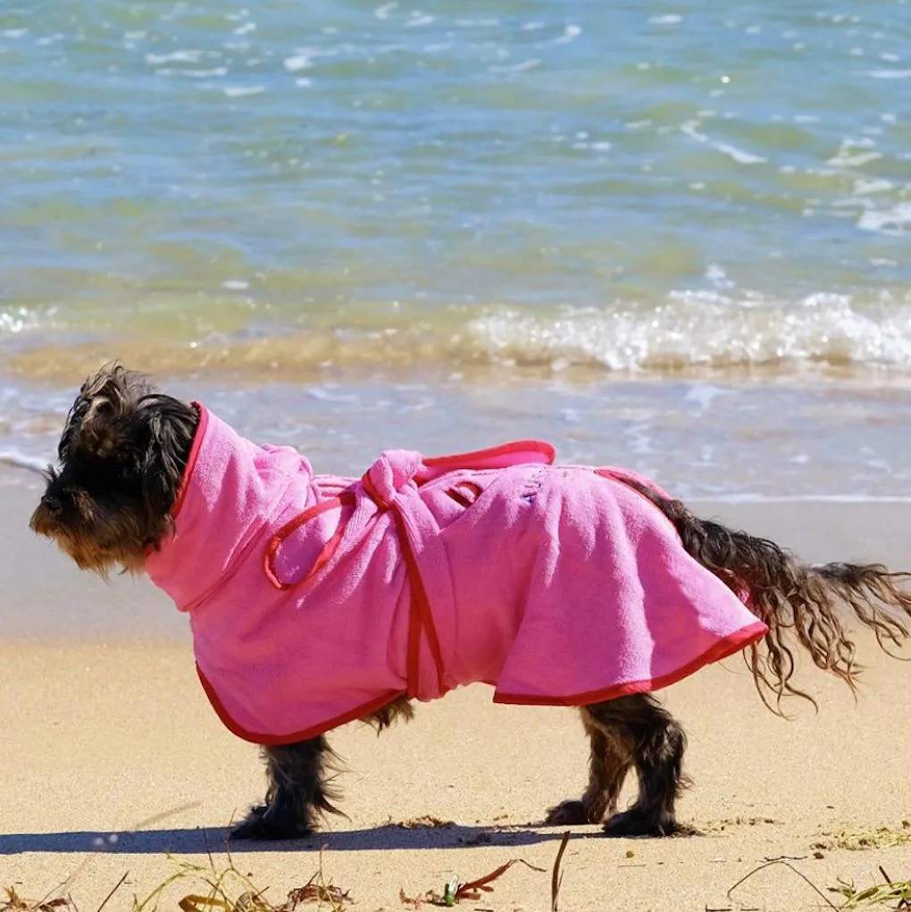
<path id="1" fill-rule="evenodd" d="M 0 112 L 11 461 L 120 356 L 346 470 L 911 493 L 906 2 L 5 4 Z"/>

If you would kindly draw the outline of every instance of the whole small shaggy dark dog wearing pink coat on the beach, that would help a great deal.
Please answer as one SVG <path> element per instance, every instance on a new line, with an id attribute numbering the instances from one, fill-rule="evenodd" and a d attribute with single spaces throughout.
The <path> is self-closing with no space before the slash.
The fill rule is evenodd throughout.
<path id="1" fill-rule="evenodd" d="M 743 650 L 779 711 L 811 699 L 793 646 L 854 688 L 845 607 L 884 648 L 911 617 L 883 565 L 803 565 L 632 472 L 554 465 L 540 441 L 316 475 L 120 366 L 80 390 L 31 527 L 83 569 L 148 573 L 187 613 L 213 708 L 264 749 L 265 802 L 235 838 L 336 812 L 326 731 L 382 730 L 475 681 L 581 711 L 588 786 L 548 823 L 672 834 L 686 739 L 653 690 Z"/>

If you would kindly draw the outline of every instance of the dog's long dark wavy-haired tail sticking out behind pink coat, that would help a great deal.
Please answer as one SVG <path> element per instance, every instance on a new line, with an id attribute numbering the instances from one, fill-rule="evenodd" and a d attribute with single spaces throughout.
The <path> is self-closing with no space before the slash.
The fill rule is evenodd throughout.
<path id="1" fill-rule="evenodd" d="M 677 500 L 669 500 L 632 479 L 624 479 L 664 513 L 677 528 L 688 554 L 719 577 L 759 617 L 769 632 L 746 652 L 756 688 L 772 712 L 782 715 L 782 699 L 809 694 L 792 685 L 796 639 L 817 668 L 829 671 L 856 690 L 861 668 L 845 627 L 847 607 L 875 634 L 880 648 L 900 648 L 908 639 L 911 593 L 896 584 L 911 574 L 893 573 L 882 564 L 806 565 L 766 538 L 699 519 Z M 789 643 L 790 641 L 790 643 Z M 890 653 L 891 655 L 891 653 Z"/>

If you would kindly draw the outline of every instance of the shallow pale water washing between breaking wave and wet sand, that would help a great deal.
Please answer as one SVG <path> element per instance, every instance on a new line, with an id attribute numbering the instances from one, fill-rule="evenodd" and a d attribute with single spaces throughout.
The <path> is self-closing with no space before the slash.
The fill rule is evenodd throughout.
<path id="1" fill-rule="evenodd" d="M 401 382 L 273 379 L 244 387 L 201 375 L 163 387 L 205 402 L 251 440 L 294 446 L 316 472 L 359 476 L 380 451 L 402 446 L 440 455 L 541 439 L 560 462 L 625 466 L 688 502 L 911 498 L 903 436 L 911 399 L 898 389 L 672 380 L 585 387 L 565 375 L 485 385 L 461 374 L 419 381 L 413 370 Z M 27 482 L 54 458 L 72 392 L 7 389 L 0 397 L 0 460 L 26 465 L 0 466 L 0 476 Z"/>

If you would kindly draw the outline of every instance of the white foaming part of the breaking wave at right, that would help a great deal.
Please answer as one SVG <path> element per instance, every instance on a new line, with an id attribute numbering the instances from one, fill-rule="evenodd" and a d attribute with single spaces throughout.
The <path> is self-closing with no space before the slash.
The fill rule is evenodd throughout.
<path id="1" fill-rule="evenodd" d="M 678 292 L 650 311 L 577 311 L 541 318 L 505 310 L 471 324 L 479 352 L 519 364 L 669 371 L 691 367 L 911 368 L 911 305 L 877 318 L 846 295 L 797 304 Z"/>

